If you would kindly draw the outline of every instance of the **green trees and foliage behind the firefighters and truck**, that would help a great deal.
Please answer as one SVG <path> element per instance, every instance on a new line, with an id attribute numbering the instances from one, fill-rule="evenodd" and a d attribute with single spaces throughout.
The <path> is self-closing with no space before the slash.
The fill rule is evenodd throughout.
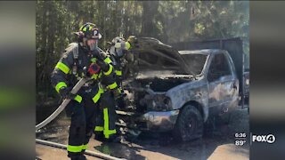
<path id="1" fill-rule="evenodd" d="M 240 36 L 248 54 L 248 1 L 37 1 L 37 86 L 51 92 L 50 74 L 72 32 L 90 21 L 100 46 L 123 35 L 153 36 L 166 44 Z"/>

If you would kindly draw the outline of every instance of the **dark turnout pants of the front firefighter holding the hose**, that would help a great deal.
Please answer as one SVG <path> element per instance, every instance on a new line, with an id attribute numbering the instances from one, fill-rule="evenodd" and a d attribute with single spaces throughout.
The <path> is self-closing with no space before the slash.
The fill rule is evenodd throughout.
<path id="1" fill-rule="evenodd" d="M 71 116 L 67 148 L 71 159 L 76 159 L 85 152 L 94 130 L 95 109 L 98 108 L 98 104 L 92 99 L 93 93 L 86 90 L 79 92 L 82 96 L 81 102 L 71 100 L 67 107 L 67 114 Z"/>

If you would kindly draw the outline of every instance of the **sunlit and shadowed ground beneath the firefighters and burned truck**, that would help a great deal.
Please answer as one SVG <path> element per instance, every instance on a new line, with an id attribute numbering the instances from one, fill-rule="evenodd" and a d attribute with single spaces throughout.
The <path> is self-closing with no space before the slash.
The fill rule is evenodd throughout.
<path id="1" fill-rule="evenodd" d="M 232 112 L 230 124 L 217 124 L 216 132 L 205 135 L 202 139 L 178 143 L 167 133 L 142 132 L 135 139 L 122 143 L 107 143 L 91 139 L 88 149 L 110 156 L 126 159 L 249 159 L 248 111 L 236 109 Z M 50 140 L 61 144 L 68 141 L 69 119 L 65 116 L 37 132 L 37 139 Z M 243 146 L 235 146 L 234 134 L 244 132 L 247 141 Z M 65 150 L 36 146 L 37 158 L 68 159 Z M 96 159 L 88 156 L 88 159 Z"/>

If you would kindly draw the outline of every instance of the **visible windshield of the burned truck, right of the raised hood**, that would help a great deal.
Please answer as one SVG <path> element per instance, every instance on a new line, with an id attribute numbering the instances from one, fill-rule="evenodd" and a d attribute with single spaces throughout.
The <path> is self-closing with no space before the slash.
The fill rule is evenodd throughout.
<path id="1" fill-rule="evenodd" d="M 202 72 L 207 60 L 207 55 L 205 54 L 182 54 L 182 57 L 188 68 L 195 75 L 199 75 Z"/>

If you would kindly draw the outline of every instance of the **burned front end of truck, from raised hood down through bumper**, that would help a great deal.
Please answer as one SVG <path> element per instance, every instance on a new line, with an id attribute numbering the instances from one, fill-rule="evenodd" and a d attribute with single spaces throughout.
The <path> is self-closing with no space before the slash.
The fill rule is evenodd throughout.
<path id="1" fill-rule="evenodd" d="M 131 115 L 128 126 L 160 132 L 173 129 L 179 114 L 174 105 L 179 102 L 177 95 L 183 87 L 189 90 L 201 84 L 202 76 L 192 74 L 177 50 L 155 38 L 139 38 L 132 53 L 135 74 L 122 83 L 125 111 Z"/>

